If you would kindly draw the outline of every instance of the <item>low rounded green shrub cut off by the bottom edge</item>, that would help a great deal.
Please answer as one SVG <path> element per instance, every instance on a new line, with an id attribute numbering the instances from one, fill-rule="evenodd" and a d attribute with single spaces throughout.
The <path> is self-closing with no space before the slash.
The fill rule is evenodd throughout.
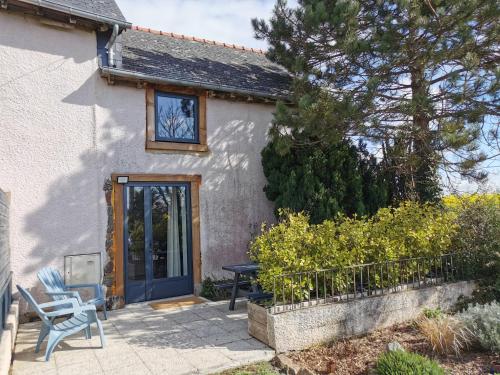
<path id="1" fill-rule="evenodd" d="M 402 350 L 382 354 L 375 365 L 377 375 L 444 375 L 438 363 Z"/>

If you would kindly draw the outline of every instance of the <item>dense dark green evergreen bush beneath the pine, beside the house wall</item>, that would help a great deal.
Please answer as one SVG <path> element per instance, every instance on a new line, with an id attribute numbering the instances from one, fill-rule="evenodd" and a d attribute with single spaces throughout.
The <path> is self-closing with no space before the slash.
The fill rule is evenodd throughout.
<path id="1" fill-rule="evenodd" d="M 293 138 L 300 145 L 288 144 Z M 262 150 L 262 166 L 267 198 L 276 208 L 307 212 L 312 223 L 339 212 L 371 215 L 388 203 L 380 164 L 365 146 L 350 141 L 280 135 Z"/>

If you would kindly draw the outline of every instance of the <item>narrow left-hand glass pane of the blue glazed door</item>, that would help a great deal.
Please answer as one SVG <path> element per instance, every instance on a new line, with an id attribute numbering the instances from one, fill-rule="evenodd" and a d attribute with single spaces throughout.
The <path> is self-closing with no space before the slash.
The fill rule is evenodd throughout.
<path id="1" fill-rule="evenodd" d="M 129 280 L 144 280 L 144 188 L 127 187 L 127 276 Z"/>

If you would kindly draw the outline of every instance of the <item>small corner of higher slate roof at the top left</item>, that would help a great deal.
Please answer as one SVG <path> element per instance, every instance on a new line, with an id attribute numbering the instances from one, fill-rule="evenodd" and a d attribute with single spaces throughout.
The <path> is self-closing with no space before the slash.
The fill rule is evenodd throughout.
<path id="1" fill-rule="evenodd" d="M 38 5 L 43 8 L 56 9 L 64 13 L 71 13 L 71 10 L 81 11 L 89 15 L 97 15 L 125 23 L 127 20 L 123 16 L 120 8 L 114 0 L 20 0 L 29 4 Z M 71 9 L 70 9 L 71 8 Z"/>

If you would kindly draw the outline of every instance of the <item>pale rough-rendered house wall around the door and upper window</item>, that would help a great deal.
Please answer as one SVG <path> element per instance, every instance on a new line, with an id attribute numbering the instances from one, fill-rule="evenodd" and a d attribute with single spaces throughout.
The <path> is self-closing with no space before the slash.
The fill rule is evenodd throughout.
<path id="1" fill-rule="evenodd" d="M 99 76 L 93 32 L 3 11 L 0 25 L 0 186 L 12 194 L 15 283 L 37 285 L 37 270 L 62 269 L 64 255 L 105 254 L 111 173 L 200 174 L 203 275 L 246 259 L 251 235 L 273 220 L 260 161 L 272 105 L 208 99 L 210 153 L 146 152 L 145 90 Z"/>

